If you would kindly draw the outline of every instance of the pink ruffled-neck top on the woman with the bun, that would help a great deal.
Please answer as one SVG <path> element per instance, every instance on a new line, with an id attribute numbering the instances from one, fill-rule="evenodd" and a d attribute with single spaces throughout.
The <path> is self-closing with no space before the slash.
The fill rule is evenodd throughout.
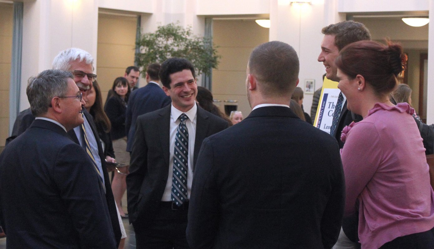
<path id="1" fill-rule="evenodd" d="M 434 192 L 413 113 L 408 103 L 376 103 L 342 131 L 345 214 L 359 211 L 362 249 L 434 227 Z"/>

